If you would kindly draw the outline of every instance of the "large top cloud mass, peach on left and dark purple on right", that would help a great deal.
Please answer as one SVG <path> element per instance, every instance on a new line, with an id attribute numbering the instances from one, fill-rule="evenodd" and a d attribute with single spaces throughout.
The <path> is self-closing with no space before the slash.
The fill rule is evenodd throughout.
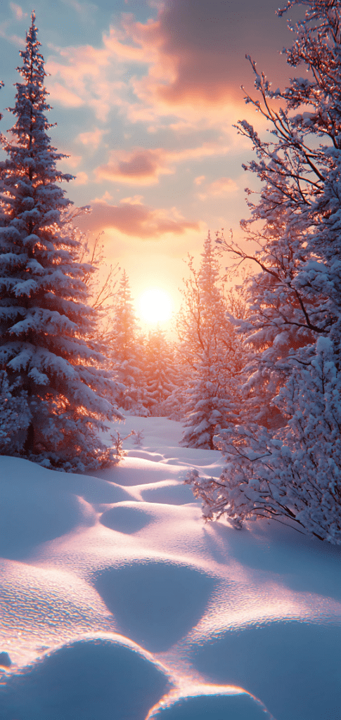
<path id="1" fill-rule="evenodd" d="M 71 1 L 77 12 L 91 11 L 91 3 Z M 146 22 L 123 13 L 120 24 L 104 32 L 101 47 L 53 49 L 46 64 L 51 99 L 69 107 L 86 104 L 103 122 L 114 110 L 129 122 L 147 123 L 150 132 L 165 118 L 175 131 L 181 123 L 195 126 L 199 117 L 230 125 L 243 106 L 240 84 L 253 86 L 245 53 L 263 67 L 273 52 L 271 71 L 280 68 L 282 76 L 287 67 L 276 50 L 290 36 L 273 1 L 196 0 L 193 12 L 193 0 L 167 0 L 149 3 L 156 17 Z M 278 73 L 273 79 L 278 84 Z"/>

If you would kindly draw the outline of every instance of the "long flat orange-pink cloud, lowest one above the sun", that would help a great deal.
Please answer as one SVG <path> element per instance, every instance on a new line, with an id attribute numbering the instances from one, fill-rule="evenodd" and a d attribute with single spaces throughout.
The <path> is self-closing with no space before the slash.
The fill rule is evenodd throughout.
<path id="1" fill-rule="evenodd" d="M 165 210 L 153 210 L 147 205 L 133 202 L 111 205 L 103 200 L 95 200 L 92 202 L 91 214 L 79 220 L 82 230 L 99 232 L 112 228 L 142 240 L 158 239 L 165 233 L 183 235 L 186 230 L 199 230 L 198 222 L 172 217 Z"/>

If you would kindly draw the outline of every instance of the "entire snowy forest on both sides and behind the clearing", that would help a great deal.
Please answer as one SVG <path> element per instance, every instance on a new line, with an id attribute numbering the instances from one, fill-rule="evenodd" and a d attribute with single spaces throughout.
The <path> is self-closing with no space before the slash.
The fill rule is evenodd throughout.
<path id="1" fill-rule="evenodd" d="M 260 192 L 247 191 L 245 243 L 213 231 L 187 258 L 177 341 L 142 335 L 125 271 L 97 279 L 104 250 L 61 185 L 73 176 L 48 135 L 32 14 L 1 136 L 0 452 L 85 472 L 119 459 L 119 424 L 111 446 L 100 438 L 124 413 L 178 420 L 182 446 L 224 457 L 219 479 L 186 478 L 206 520 L 282 518 L 341 544 L 341 9 L 278 13 L 296 4 L 306 16 L 283 52 L 304 78 L 273 91 L 249 58 L 245 101 L 269 130 L 237 132 Z"/>

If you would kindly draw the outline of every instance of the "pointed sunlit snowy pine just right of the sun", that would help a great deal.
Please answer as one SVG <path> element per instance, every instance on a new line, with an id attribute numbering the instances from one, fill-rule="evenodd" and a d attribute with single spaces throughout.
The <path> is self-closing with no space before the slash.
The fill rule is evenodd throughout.
<path id="1" fill-rule="evenodd" d="M 241 341 L 227 320 L 219 287 L 219 261 L 210 235 L 199 271 L 193 258 L 178 313 L 179 354 L 191 369 L 184 408 L 184 446 L 214 449 L 214 435 L 234 417 L 235 375 L 242 364 Z"/>

